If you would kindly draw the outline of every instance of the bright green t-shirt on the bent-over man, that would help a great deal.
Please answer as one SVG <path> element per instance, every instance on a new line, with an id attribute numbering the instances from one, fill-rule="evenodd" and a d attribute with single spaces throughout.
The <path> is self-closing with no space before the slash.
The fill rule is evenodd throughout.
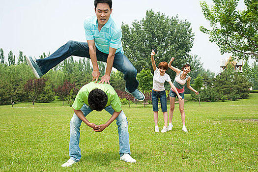
<path id="1" fill-rule="evenodd" d="M 98 83 L 99 82 L 97 83 L 91 82 L 83 86 L 77 93 L 77 96 L 75 98 L 75 101 L 72 107 L 75 110 L 80 110 L 84 104 L 89 106 L 88 94 L 92 89 L 98 88 L 103 90 L 108 96 L 108 102 L 105 108 L 111 105 L 115 112 L 120 112 L 122 110 L 121 102 L 117 93 L 115 92 L 115 89 L 109 84 L 98 84 Z"/>

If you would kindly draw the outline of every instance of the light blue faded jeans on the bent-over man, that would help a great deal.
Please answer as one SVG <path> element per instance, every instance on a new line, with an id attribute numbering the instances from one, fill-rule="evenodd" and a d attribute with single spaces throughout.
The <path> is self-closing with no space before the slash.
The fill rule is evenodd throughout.
<path id="1" fill-rule="evenodd" d="M 105 110 L 111 115 L 114 113 L 114 110 L 111 106 L 106 107 Z M 92 110 L 86 104 L 83 105 L 81 111 L 83 112 L 84 116 L 92 112 Z M 82 120 L 76 114 L 74 114 L 70 122 L 69 156 L 75 162 L 78 162 L 82 158 L 81 149 L 79 147 L 81 123 Z M 116 117 L 116 125 L 118 126 L 120 156 L 122 156 L 124 153 L 131 154 L 127 117 L 123 111 Z"/>

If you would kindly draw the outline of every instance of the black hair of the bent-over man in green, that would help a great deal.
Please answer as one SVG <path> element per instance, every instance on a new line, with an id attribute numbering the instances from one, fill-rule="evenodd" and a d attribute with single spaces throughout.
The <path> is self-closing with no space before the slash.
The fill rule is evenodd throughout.
<path id="1" fill-rule="evenodd" d="M 108 96 L 101 89 L 92 89 L 88 94 L 88 104 L 92 111 L 102 111 L 107 105 L 107 102 Z"/>

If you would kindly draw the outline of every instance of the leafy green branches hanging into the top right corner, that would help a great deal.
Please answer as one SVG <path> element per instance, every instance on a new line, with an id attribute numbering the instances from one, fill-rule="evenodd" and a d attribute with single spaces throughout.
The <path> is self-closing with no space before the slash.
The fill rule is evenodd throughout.
<path id="1" fill-rule="evenodd" d="M 202 13 L 212 29 L 200 27 L 210 35 L 222 54 L 243 59 L 258 59 L 258 1 L 244 0 L 246 10 L 237 11 L 238 0 L 213 0 L 211 8 L 201 2 Z"/>

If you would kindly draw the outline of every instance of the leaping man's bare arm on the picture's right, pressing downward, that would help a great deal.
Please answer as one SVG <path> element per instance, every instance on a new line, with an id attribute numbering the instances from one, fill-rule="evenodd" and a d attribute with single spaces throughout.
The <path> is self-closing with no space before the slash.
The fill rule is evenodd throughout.
<path id="1" fill-rule="evenodd" d="M 109 80 L 110 80 L 110 73 L 113 67 L 113 62 L 114 62 L 114 58 L 115 58 L 115 48 L 111 48 L 109 47 L 109 56 L 107 58 L 107 68 L 106 68 L 106 73 L 104 76 L 101 77 L 101 81 L 99 82 L 99 84 L 101 83 L 105 83 L 105 84 L 110 84 Z"/>

